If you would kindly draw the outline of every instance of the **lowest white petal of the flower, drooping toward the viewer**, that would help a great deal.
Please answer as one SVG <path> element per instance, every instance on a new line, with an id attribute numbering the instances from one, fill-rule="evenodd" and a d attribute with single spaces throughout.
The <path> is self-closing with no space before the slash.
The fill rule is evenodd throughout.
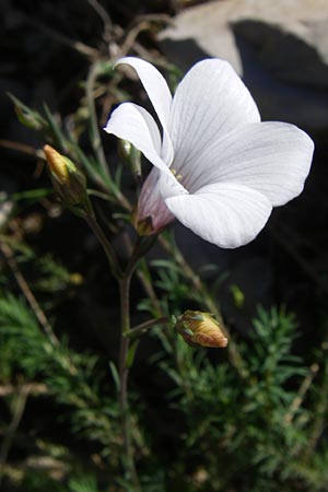
<path id="1" fill-rule="evenodd" d="M 186 227 L 222 248 L 253 241 L 272 210 L 263 195 L 232 183 L 209 185 L 195 195 L 167 198 L 165 203 Z"/>

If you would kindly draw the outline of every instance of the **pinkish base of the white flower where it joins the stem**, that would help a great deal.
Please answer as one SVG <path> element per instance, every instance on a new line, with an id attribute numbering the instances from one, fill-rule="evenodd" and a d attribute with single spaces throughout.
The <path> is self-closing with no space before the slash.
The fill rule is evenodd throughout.
<path id="1" fill-rule="evenodd" d="M 175 219 L 160 195 L 160 174 L 156 168 L 149 174 L 133 214 L 133 225 L 141 236 L 159 234 Z"/>

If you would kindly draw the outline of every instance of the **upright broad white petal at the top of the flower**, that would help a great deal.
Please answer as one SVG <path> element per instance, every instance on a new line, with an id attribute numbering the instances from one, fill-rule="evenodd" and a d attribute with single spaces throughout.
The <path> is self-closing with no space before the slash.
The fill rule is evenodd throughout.
<path id="1" fill-rule="evenodd" d="M 248 89 L 227 61 L 216 58 L 196 63 L 172 103 L 169 134 L 176 168 L 196 159 L 213 139 L 259 120 Z"/>

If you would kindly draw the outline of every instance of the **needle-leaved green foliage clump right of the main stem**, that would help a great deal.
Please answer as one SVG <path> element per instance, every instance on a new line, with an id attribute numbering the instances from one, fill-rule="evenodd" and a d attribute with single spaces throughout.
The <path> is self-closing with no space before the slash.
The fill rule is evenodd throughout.
<path id="1" fill-rule="evenodd" d="M 325 490 L 323 462 L 304 459 L 312 419 L 297 388 L 308 371 L 292 354 L 295 336 L 284 309 L 259 309 L 254 331 L 239 344 L 244 380 L 227 361 L 213 364 L 204 352 L 174 341 L 176 366 L 165 358 L 162 368 L 174 382 L 171 401 L 183 422 L 175 461 L 184 467 L 176 471 L 196 481 L 201 475 L 199 490 L 292 490 L 301 479 L 305 490 Z M 175 482 L 173 469 L 171 476 Z"/>

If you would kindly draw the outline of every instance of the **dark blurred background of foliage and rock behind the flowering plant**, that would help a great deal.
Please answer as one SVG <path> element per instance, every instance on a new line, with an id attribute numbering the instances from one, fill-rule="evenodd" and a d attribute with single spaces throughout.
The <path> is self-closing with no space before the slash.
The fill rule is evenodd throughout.
<path id="1" fill-rule="evenodd" d="M 156 330 L 140 344 L 131 407 L 142 490 L 327 491 L 327 1 L 1 0 L 0 9 L 1 490 L 132 490 L 120 462 L 116 285 L 86 225 L 54 196 L 42 148 L 63 142 L 58 150 L 90 169 L 90 97 L 98 128 L 122 101 L 149 104 L 137 79 L 113 71 L 133 55 L 172 89 L 197 60 L 227 59 L 263 120 L 295 124 L 316 144 L 304 192 L 274 209 L 251 244 L 221 250 L 174 224 L 171 247 L 148 258 L 157 311 L 134 280 L 134 325 L 144 313 L 214 305 L 233 336 L 229 353 Z M 117 142 L 101 138 L 132 201 Z M 95 200 L 125 261 L 126 211 Z"/>

